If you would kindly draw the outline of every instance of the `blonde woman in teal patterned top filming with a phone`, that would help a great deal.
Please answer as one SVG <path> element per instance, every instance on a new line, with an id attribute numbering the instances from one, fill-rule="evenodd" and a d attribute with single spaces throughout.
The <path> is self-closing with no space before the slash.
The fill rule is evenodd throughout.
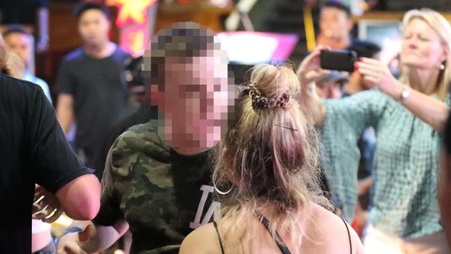
<path id="1" fill-rule="evenodd" d="M 357 198 L 357 139 L 373 126 L 377 136 L 371 227 L 367 253 L 451 253 L 436 202 L 438 151 L 450 100 L 450 24 L 433 10 L 411 10 L 403 19 L 401 76 L 378 60 L 355 67 L 378 89 L 343 100 L 321 101 L 312 84 L 327 73 L 318 49 L 298 75 L 307 108 L 323 127 L 325 171 L 343 215 L 350 219 Z"/>

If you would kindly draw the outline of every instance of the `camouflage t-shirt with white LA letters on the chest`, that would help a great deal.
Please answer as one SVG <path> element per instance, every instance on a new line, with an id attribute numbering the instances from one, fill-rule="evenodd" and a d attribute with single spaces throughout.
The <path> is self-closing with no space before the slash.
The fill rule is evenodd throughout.
<path id="1" fill-rule="evenodd" d="M 180 155 L 150 122 L 129 128 L 108 153 L 94 222 L 128 221 L 132 253 L 178 253 L 189 232 L 220 216 L 219 203 L 211 201 L 214 150 Z"/>

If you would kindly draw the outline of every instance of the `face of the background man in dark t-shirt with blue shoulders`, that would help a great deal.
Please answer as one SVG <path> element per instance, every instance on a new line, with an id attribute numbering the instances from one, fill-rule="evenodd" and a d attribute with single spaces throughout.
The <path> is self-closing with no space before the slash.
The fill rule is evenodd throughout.
<path id="1" fill-rule="evenodd" d="M 108 41 L 110 22 L 101 10 L 86 10 L 78 19 L 78 32 L 88 45 L 99 45 Z"/>

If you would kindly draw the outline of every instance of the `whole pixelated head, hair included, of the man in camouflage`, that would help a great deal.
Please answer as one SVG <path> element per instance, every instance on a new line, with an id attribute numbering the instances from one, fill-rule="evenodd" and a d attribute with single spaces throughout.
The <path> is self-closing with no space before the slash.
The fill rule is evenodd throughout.
<path id="1" fill-rule="evenodd" d="M 219 38 L 197 24 L 179 23 L 160 31 L 151 47 L 142 75 L 163 120 L 158 135 L 184 155 L 212 148 L 228 130 L 237 97 Z"/>

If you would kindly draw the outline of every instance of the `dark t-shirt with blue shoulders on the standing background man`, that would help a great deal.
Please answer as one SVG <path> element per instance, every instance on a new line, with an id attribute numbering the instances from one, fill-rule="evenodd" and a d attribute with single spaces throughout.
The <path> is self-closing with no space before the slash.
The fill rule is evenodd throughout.
<path id="1" fill-rule="evenodd" d="M 102 59 L 87 56 L 80 48 L 65 57 L 58 72 L 58 92 L 74 96 L 75 145 L 83 149 L 88 167 L 92 167 L 92 158 L 107 130 L 126 106 L 124 68 L 129 57 L 119 46 Z"/>

